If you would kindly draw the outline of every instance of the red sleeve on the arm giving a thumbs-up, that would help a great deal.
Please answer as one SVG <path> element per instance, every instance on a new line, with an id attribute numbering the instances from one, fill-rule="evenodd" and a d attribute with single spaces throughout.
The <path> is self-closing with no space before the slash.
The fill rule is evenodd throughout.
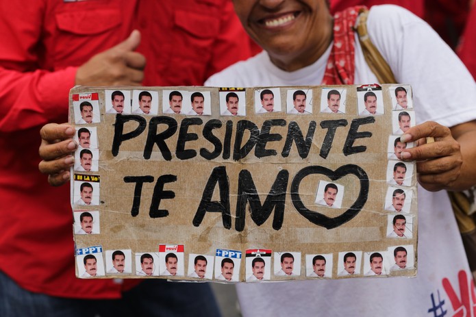
<path id="1" fill-rule="evenodd" d="M 51 121 L 66 121 L 68 92 L 77 68 L 48 71 L 49 36 L 44 27 L 47 5 L 33 1 L 2 1 L 0 11 L 0 131 L 29 129 Z M 27 16 L 28 18 L 21 18 Z M 41 69 L 43 68 L 43 69 Z M 39 69 L 37 71 L 34 71 Z"/>

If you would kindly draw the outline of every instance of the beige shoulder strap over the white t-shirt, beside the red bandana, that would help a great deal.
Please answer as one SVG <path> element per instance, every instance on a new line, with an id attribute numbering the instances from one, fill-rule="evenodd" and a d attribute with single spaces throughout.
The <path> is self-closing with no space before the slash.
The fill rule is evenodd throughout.
<path id="1" fill-rule="evenodd" d="M 388 66 L 386 60 L 382 57 L 375 45 L 371 42 L 367 32 L 367 9 L 360 9 L 359 16 L 355 23 L 355 31 L 357 32 L 360 40 L 360 46 L 364 53 L 365 61 L 371 68 L 371 71 L 377 76 L 380 84 L 397 84 L 390 66 Z"/>

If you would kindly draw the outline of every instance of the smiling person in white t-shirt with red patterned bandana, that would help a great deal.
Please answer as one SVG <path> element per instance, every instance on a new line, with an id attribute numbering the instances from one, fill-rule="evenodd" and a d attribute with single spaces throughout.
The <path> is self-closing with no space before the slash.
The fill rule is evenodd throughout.
<path id="1" fill-rule="evenodd" d="M 234 5 L 242 25 L 264 51 L 213 75 L 206 81 L 207 86 L 379 83 L 365 62 L 358 36 L 346 27 L 355 25 L 358 8 L 333 17 L 325 0 L 234 0 Z M 451 315 L 451 301 L 441 291 L 442 279 L 458 286 L 460 272 L 471 277 L 451 205 L 442 190 L 476 185 L 475 81 L 437 34 L 410 12 L 395 5 L 374 5 L 366 25 L 369 38 L 394 77 L 410 84 L 415 92 L 413 102 L 418 105 L 421 124 L 408 129 L 402 142 L 424 142 L 428 136 L 436 140 L 424 147 L 405 149 L 401 157 L 417 161 L 421 185 L 418 216 L 422 225 L 418 231 L 419 257 L 438 258 L 440 262 L 438 266 L 431 261 L 418 262 L 414 279 L 240 284 L 237 290 L 243 316 L 308 316 L 315 312 L 328 316 L 393 316 L 395 296 L 405 303 L 399 314 L 425 316 L 431 307 L 429 294 L 436 290 L 440 290 L 447 303 L 444 309 Z M 345 43 L 349 45 L 342 45 Z M 462 100 L 456 101 L 455 96 Z M 434 230 L 438 227 L 447 228 L 444 235 Z M 444 257 L 440 256 L 442 250 Z M 375 294 L 379 305 L 372 305 Z"/>

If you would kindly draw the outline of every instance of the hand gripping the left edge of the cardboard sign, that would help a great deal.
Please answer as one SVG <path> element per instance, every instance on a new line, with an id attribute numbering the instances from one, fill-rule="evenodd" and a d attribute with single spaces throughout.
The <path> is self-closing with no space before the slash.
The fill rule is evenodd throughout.
<path id="1" fill-rule="evenodd" d="M 67 124 L 49 123 L 40 130 L 42 161 L 38 168 L 41 173 L 48 174 L 52 186 L 61 186 L 69 180 L 69 168 L 75 163 L 71 152 L 77 148 L 74 134 L 75 129 Z"/>

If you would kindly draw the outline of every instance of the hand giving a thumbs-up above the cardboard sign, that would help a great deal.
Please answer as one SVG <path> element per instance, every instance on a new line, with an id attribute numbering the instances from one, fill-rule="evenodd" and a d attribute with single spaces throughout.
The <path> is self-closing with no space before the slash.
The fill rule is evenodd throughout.
<path id="1" fill-rule="evenodd" d="M 139 86 L 144 79 L 145 57 L 134 49 L 140 43 L 140 32 L 115 47 L 92 56 L 77 69 L 76 84 L 85 86 Z"/>

